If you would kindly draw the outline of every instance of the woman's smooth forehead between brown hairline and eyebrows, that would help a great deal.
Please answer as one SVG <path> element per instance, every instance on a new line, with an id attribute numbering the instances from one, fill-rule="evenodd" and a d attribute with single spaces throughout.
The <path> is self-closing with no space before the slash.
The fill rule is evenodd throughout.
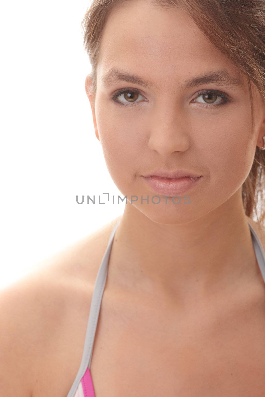
<path id="1" fill-rule="evenodd" d="M 97 68 L 99 79 L 117 65 L 163 82 L 172 76 L 183 75 L 184 80 L 209 70 L 236 75 L 234 66 L 184 10 L 165 10 L 143 0 L 126 2 L 106 21 Z"/>

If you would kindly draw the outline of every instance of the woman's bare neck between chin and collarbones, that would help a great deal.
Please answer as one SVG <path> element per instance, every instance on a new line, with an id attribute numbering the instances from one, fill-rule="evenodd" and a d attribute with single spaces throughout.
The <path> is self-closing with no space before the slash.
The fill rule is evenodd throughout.
<path id="1" fill-rule="evenodd" d="M 259 273 L 248 221 L 244 208 L 219 207 L 188 224 L 159 224 L 127 205 L 112 244 L 110 279 L 126 291 L 182 298 L 234 288 Z"/>

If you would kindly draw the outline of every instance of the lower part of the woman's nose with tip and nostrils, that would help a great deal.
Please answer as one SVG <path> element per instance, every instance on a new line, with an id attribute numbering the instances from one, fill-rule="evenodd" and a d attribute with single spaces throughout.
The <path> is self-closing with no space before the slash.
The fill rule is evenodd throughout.
<path id="1" fill-rule="evenodd" d="M 160 120 L 152 127 L 148 146 L 150 150 L 156 150 L 161 156 L 169 156 L 173 152 L 184 152 L 190 146 L 188 135 L 185 133 L 186 127 L 180 126 L 176 118 L 174 122 Z"/>

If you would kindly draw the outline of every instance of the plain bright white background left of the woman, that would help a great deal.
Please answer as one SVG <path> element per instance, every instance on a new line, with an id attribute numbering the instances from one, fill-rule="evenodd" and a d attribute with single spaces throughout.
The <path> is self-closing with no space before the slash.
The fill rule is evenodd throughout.
<path id="1" fill-rule="evenodd" d="M 81 21 L 89 5 L 2 2 L 0 289 L 124 211 L 124 203 L 76 202 L 121 195 L 85 93 L 91 65 Z"/>

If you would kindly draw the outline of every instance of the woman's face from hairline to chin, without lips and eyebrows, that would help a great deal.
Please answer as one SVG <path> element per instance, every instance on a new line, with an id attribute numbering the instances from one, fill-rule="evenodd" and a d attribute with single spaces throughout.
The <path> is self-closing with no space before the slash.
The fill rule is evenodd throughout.
<path id="1" fill-rule="evenodd" d="M 114 77 L 104 80 L 111 69 L 133 74 L 146 85 Z M 185 87 L 190 79 L 215 72 L 229 74 L 245 86 L 219 81 Z M 125 92 L 118 93 L 120 89 Z M 214 91 L 207 96 L 209 90 Z M 92 109 L 96 135 L 114 183 L 128 197 L 127 205 L 131 195 L 137 196 L 133 206 L 152 220 L 185 223 L 221 211 L 226 204 L 228 209 L 241 205 L 242 183 L 250 172 L 265 116 L 255 89 L 253 99 L 252 136 L 245 77 L 184 11 L 135 0 L 108 17 Z M 142 176 L 157 169 L 185 169 L 203 177 L 172 202 L 152 190 Z M 153 196 L 161 198 L 159 204 L 152 202 Z M 159 202 L 159 197 L 153 201 Z"/>

